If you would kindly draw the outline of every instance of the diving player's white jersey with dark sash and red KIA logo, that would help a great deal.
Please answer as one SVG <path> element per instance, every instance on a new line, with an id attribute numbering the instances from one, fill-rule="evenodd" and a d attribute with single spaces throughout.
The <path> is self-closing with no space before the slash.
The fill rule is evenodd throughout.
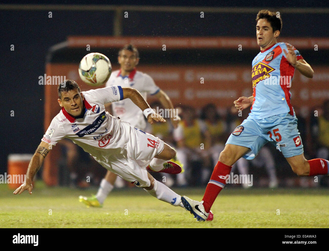
<path id="1" fill-rule="evenodd" d="M 75 118 L 62 108 L 41 140 L 55 145 L 60 139 L 69 138 L 96 160 L 108 162 L 110 156 L 124 152 L 132 128 L 129 123 L 105 112 L 104 104 L 123 99 L 122 88 L 112 86 L 82 94 L 85 114 Z"/>

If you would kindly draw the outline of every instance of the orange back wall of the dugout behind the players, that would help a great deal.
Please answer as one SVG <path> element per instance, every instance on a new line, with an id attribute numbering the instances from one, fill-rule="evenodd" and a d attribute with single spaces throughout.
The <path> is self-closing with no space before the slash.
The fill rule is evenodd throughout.
<path id="1" fill-rule="evenodd" d="M 294 107 L 308 111 L 329 99 L 329 67 L 314 66 L 315 76 L 308 79 L 298 71 L 291 86 L 291 102 Z M 115 70 L 115 67 L 114 69 Z M 139 65 L 138 70 L 149 74 L 155 83 L 163 89 L 174 105 L 190 105 L 201 108 L 214 103 L 221 108 L 230 107 L 240 96 L 252 95 L 251 67 L 235 65 Z M 91 89 L 80 80 L 78 64 L 46 65 L 47 76 L 65 76 L 77 81 L 82 91 Z M 201 83 L 203 78 L 203 83 Z M 57 102 L 57 85 L 45 85 L 44 130 L 60 111 Z M 101 88 L 101 87 L 98 87 Z M 148 99 L 149 102 L 152 98 Z M 44 162 L 43 179 L 49 186 L 58 184 L 59 147 L 53 147 Z"/>

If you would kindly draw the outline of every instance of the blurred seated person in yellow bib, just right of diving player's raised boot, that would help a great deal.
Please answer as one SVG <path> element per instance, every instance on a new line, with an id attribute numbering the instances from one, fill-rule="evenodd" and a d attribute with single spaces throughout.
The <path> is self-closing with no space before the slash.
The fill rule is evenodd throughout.
<path id="1" fill-rule="evenodd" d="M 197 118 L 193 107 L 182 106 L 182 121 L 174 130 L 174 140 L 177 159 L 185 169 L 184 173 L 176 176 L 177 184 L 186 186 L 189 181 L 190 185 L 201 185 L 203 166 L 209 162 L 207 150 L 211 139 L 205 123 Z"/>

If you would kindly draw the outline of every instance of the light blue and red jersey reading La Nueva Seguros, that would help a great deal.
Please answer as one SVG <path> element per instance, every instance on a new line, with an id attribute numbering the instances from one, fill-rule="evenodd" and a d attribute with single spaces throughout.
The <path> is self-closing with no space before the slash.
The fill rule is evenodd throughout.
<path id="1" fill-rule="evenodd" d="M 291 105 L 291 79 L 295 68 L 286 59 L 285 43 L 276 43 L 261 51 L 252 61 L 254 101 L 250 108 L 251 119 L 262 119 L 281 113 L 293 115 Z M 297 60 L 303 59 L 295 48 Z"/>

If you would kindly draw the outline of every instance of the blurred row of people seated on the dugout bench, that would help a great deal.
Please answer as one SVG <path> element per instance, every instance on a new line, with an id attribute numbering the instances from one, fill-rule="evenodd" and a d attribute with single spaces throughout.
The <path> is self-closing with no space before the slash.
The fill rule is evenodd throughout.
<path id="1" fill-rule="evenodd" d="M 162 109 L 161 104 L 151 104 L 154 109 Z M 237 111 L 234 107 L 225 111 L 218 110 L 214 104 L 208 104 L 197 110 L 191 106 L 179 105 L 181 122 L 174 129 L 167 119 L 166 123 L 148 125 L 147 133 L 161 138 L 174 147 L 177 159 L 183 164 L 184 172 L 178 175 L 152 173 L 167 186 L 205 186 L 218 161 L 225 142 L 234 129 L 248 116 L 249 109 Z M 301 113 L 294 108 L 298 118 L 298 130 L 304 145 L 306 159 L 329 159 L 329 100 L 322 105 Z M 96 187 L 106 173 L 93 158 L 70 140 L 62 140 L 59 181 L 60 185 L 78 188 Z M 267 143 L 255 159 L 241 158 L 232 168 L 233 174 L 253 174 L 253 186 L 257 187 L 328 187 L 326 176 L 297 177 L 282 154 L 271 143 Z M 231 186 L 250 188 L 247 183 L 230 184 Z M 116 188 L 131 186 L 122 179 L 117 179 Z"/>

